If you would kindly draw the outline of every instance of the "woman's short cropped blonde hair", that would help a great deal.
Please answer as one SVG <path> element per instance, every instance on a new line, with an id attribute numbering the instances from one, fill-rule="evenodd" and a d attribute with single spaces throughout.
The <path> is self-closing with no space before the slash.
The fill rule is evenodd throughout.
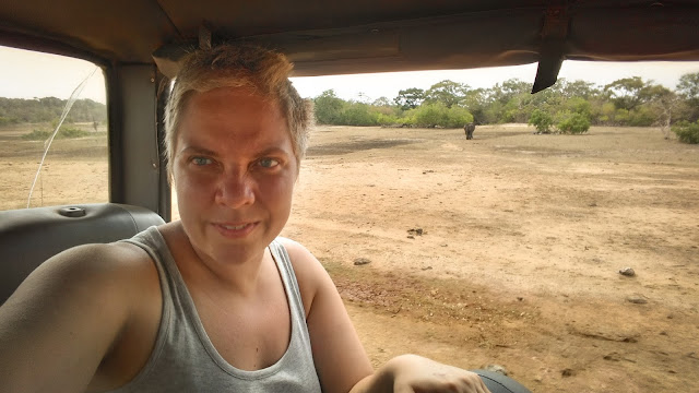
<path id="1" fill-rule="evenodd" d="M 222 44 L 188 53 L 165 107 L 165 157 L 170 177 L 177 132 L 189 97 L 217 87 L 248 87 L 277 103 L 300 163 L 308 146 L 312 105 L 299 96 L 288 80 L 292 69 L 284 55 L 256 46 Z"/>

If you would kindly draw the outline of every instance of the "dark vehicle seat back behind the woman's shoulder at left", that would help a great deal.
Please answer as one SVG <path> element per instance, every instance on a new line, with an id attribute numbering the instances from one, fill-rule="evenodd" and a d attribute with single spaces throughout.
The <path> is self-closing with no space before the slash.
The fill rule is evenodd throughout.
<path id="1" fill-rule="evenodd" d="M 165 222 L 147 209 L 117 203 L 0 212 L 0 305 L 39 264 L 71 247 L 127 239 Z"/>

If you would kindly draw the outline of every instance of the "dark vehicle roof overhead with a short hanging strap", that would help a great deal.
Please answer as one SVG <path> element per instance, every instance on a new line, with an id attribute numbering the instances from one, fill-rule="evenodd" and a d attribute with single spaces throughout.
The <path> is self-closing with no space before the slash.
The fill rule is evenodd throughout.
<path id="1" fill-rule="evenodd" d="M 152 63 L 156 50 L 176 60 L 210 32 L 213 41 L 282 50 L 297 76 L 541 60 L 540 74 L 555 82 L 564 59 L 699 60 L 697 26 L 696 0 L 21 0 L 0 8 L 0 45 Z"/>

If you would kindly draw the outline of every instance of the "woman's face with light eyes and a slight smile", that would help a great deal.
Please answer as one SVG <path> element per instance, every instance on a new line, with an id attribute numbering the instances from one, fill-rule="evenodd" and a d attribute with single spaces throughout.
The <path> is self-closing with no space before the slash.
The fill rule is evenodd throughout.
<path id="1" fill-rule="evenodd" d="M 244 87 L 189 98 L 173 176 L 182 226 L 202 260 L 262 258 L 288 219 L 297 174 L 276 103 Z"/>

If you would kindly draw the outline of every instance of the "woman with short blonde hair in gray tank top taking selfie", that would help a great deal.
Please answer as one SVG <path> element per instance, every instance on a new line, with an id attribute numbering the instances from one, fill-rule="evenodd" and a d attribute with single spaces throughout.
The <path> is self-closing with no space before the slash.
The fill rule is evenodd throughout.
<path id="1" fill-rule="evenodd" d="M 279 238 L 311 116 L 291 70 L 188 56 L 165 119 L 181 219 L 33 273 L 0 309 L 1 391 L 487 392 L 413 355 L 375 372 L 322 265 Z"/>

